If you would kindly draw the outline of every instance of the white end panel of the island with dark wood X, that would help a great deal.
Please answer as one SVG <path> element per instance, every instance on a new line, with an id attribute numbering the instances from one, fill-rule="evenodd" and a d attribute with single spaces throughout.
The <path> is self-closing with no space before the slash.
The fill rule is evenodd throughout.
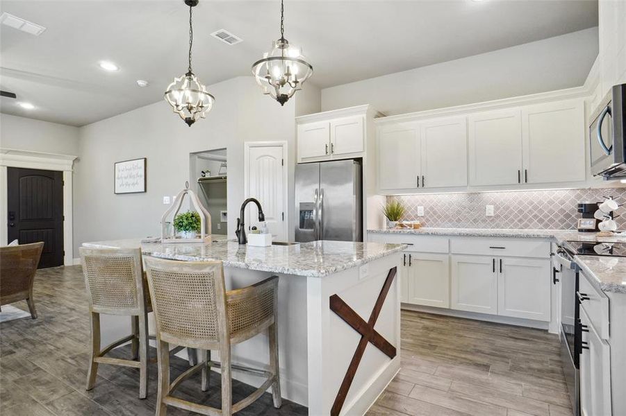
<path id="1" fill-rule="evenodd" d="M 390 255 L 307 279 L 309 415 L 363 415 L 400 369 L 400 267 Z"/>

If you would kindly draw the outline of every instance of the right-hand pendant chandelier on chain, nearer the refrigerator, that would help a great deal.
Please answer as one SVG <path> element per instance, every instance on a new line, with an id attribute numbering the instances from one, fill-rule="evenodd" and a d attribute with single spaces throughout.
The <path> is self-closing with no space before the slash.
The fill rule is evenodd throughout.
<path id="1" fill-rule="evenodd" d="M 263 59 L 252 64 L 252 73 L 263 88 L 263 94 L 269 94 L 281 105 L 313 75 L 313 67 L 301 55 L 302 51 L 285 39 L 284 20 L 285 8 L 281 0 L 281 37 L 273 42 L 271 52 L 264 53 Z"/>

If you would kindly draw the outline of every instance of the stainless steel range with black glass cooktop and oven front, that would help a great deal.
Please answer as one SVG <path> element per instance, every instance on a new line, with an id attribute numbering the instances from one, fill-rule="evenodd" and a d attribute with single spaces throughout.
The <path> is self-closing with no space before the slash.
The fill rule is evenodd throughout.
<path id="1" fill-rule="evenodd" d="M 554 253 L 559 264 L 553 270 L 554 284 L 561 283 L 561 361 L 568 385 L 573 415 L 580 415 L 579 357 L 582 352 L 582 324 L 579 318 L 579 267 L 574 256 L 626 257 L 626 243 L 566 241 Z M 558 277 L 557 277 L 558 276 Z"/>

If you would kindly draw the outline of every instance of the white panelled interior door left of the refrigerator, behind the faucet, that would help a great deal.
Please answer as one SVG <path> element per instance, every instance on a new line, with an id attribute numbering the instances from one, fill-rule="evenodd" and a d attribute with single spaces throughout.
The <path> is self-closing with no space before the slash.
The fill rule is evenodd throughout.
<path id="1" fill-rule="evenodd" d="M 286 145 L 267 144 L 245 146 L 246 198 L 261 202 L 265 223 L 274 241 L 287 239 L 287 176 L 285 163 Z M 249 204 L 245 213 L 246 232 L 252 226 L 260 228 L 256 206 Z"/>

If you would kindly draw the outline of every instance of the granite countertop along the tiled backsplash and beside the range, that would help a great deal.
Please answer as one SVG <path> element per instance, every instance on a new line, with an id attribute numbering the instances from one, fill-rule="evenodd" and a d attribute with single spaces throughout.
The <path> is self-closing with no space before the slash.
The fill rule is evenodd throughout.
<path id="1" fill-rule="evenodd" d="M 573 229 L 486 229 L 486 228 L 429 228 L 368 229 L 373 234 L 414 234 L 427 236 L 506 237 L 518 239 L 550 239 L 562 245 L 566 241 L 626 243 L 626 234 L 604 237 L 595 232 L 577 232 Z M 575 256 L 578 266 L 604 292 L 626 294 L 626 257 Z"/>

